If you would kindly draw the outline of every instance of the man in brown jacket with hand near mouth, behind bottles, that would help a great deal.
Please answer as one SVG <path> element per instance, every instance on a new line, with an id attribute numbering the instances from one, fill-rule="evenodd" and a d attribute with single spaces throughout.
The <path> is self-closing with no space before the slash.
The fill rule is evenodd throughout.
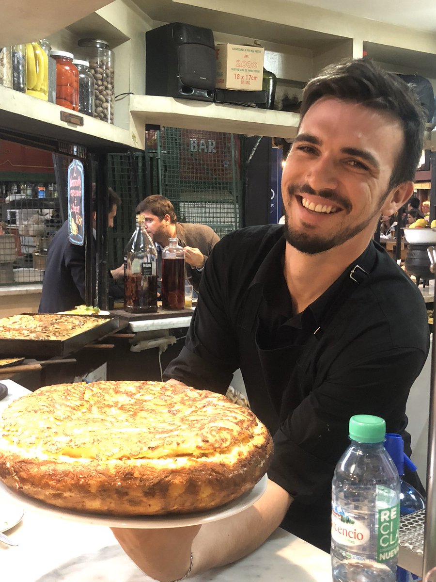
<path id="1" fill-rule="evenodd" d="M 137 214 L 145 217 L 145 228 L 158 249 L 158 279 L 162 272 L 161 253 L 170 238 L 177 238 L 178 244 L 185 249 L 186 278 L 198 292 L 203 268 L 215 246 L 220 240 L 217 233 L 204 224 L 177 222 L 173 204 L 165 196 L 153 194 L 142 200 Z"/>

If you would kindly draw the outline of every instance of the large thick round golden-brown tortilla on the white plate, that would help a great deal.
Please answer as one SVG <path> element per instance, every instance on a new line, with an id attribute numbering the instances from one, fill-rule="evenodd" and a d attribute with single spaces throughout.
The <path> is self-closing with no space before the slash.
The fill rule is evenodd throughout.
<path id="1" fill-rule="evenodd" d="M 162 515 L 216 508 L 265 474 L 269 432 L 226 396 L 162 382 L 40 388 L 0 421 L 0 480 L 61 508 Z"/>

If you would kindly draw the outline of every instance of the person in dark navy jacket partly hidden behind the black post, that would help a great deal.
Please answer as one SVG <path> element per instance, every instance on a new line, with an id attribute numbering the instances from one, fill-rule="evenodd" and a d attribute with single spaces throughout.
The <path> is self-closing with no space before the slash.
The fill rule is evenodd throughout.
<path id="1" fill-rule="evenodd" d="M 113 219 L 117 207 L 121 204 L 118 194 L 108 189 L 108 227 L 113 228 Z M 92 228 L 96 228 L 97 212 L 95 210 L 95 194 L 92 196 Z M 95 239 L 92 238 L 91 249 L 93 260 L 96 258 Z M 122 272 L 121 272 L 122 269 Z M 115 274 L 114 274 L 115 273 Z M 117 279 L 124 274 L 124 268 L 119 267 L 109 274 Z M 96 269 L 92 271 L 92 289 L 95 289 Z M 69 240 L 69 224 L 65 221 L 49 245 L 47 262 L 45 264 L 44 280 L 38 313 L 57 313 L 69 311 L 85 302 L 85 246 L 78 246 Z"/>

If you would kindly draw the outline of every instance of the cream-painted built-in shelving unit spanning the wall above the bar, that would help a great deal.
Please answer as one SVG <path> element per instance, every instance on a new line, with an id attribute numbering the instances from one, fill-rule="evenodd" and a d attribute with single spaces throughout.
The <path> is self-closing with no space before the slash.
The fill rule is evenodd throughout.
<path id="1" fill-rule="evenodd" d="M 65 45 L 66 49 L 75 48 L 80 37 L 105 38 L 115 51 L 118 93 L 132 92 L 134 95 L 130 95 L 130 107 L 127 107 L 127 98 L 117 102 L 115 119 L 123 127 L 87 116 L 84 116 L 83 126 L 74 126 L 60 121 L 61 108 L 58 106 L 0 86 L 0 127 L 40 139 L 107 151 L 144 148 L 146 123 L 295 137 L 299 121 L 295 113 L 141 95 L 145 87 L 144 34 L 165 22 L 210 27 L 220 38 L 219 42 L 242 44 L 251 39 L 251 42 L 260 40 L 266 46 L 270 65 L 274 65 L 270 70 L 277 72 L 284 83 L 292 80 L 304 83 L 321 66 L 344 56 L 362 54 L 363 49 L 389 69 L 407 66 L 419 74 L 428 72 L 424 76 L 430 79 L 433 78 L 430 72 L 436 66 L 436 37 L 433 34 L 416 34 L 405 27 L 301 5 L 292 0 L 252 0 L 249 11 L 246 5 L 233 0 L 115 0 L 110 3 L 108 0 L 77 0 L 74 9 L 65 9 L 62 14 L 53 10 L 49 0 L 42 0 L 40 4 L 31 27 L 23 16 L 28 13 L 28 0 L 17 0 L 15 5 L 9 6 L 3 15 L 3 29 L 27 36 L 13 37 L 13 41 L 7 42 L 5 39 L 9 37 L 7 34 L 5 37 L 3 30 L 2 45 L 28 41 L 29 28 L 35 38 L 55 33 L 56 43 Z M 97 12 L 91 13 L 91 10 Z M 435 132 L 428 132 L 426 141 L 426 147 L 432 149 L 436 143 L 431 139 L 433 134 Z"/>

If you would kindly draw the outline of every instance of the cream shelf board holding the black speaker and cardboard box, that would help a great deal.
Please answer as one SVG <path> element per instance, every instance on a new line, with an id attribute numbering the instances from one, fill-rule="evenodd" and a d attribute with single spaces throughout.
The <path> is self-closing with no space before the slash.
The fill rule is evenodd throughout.
<path id="1" fill-rule="evenodd" d="M 130 95 L 130 115 L 131 132 L 137 135 L 141 135 L 145 123 L 150 123 L 210 132 L 292 138 L 296 135 L 299 120 L 296 113 L 153 95 Z"/>

